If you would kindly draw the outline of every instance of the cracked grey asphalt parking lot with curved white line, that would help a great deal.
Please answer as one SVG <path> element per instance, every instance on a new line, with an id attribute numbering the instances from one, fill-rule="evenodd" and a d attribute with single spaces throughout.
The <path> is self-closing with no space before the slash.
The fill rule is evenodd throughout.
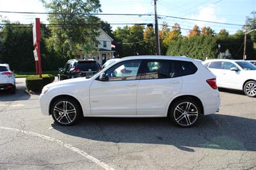
<path id="1" fill-rule="evenodd" d="M 193 128 L 166 118 L 61 127 L 17 79 L 15 95 L 0 91 L 0 169 L 256 169 L 256 98 L 220 90 L 220 112 Z"/>

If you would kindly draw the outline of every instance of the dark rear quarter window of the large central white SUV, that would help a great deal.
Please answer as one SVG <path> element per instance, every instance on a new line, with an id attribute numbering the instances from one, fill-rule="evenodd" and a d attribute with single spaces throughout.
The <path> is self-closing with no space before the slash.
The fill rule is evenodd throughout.
<path id="1" fill-rule="evenodd" d="M 180 76 L 196 73 L 197 67 L 190 61 L 179 61 Z"/>

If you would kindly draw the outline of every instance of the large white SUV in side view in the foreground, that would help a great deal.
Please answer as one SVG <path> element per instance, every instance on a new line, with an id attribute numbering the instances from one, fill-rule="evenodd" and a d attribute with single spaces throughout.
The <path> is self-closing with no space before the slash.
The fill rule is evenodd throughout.
<path id="1" fill-rule="evenodd" d="M 125 66 L 132 66 L 132 74 L 121 73 Z M 216 76 L 194 59 L 169 56 L 122 58 L 89 79 L 48 84 L 39 101 L 42 113 L 60 125 L 81 116 L 168 116 L 179 127 L 191 127 L 220 107 Z"/>

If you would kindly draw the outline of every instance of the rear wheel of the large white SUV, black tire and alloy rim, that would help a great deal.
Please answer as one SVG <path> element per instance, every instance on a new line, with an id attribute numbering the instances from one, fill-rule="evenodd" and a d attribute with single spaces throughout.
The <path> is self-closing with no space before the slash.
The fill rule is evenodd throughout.
<path id="1" fill-rule="evenodd" d="M 183 128 L 188 128 L 195 125 L 200 119 L 201 114 L 201 106 L 191 99 L 178 100 L 177 102 L 173 103 L 169 109 L 171 121 L 176 126 Z"/>

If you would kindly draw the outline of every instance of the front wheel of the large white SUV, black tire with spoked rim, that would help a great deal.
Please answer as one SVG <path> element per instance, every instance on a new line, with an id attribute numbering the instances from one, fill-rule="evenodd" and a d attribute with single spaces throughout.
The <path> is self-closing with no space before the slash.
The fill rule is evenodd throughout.
<path id="1" fill-rule="evenodd" d="M 70 126 L 80 120 L 83 111 L 80 104 L 73 98 L 60 98 L 52 104 L 51 114 L 53 120 L 59 125 Z"/>

